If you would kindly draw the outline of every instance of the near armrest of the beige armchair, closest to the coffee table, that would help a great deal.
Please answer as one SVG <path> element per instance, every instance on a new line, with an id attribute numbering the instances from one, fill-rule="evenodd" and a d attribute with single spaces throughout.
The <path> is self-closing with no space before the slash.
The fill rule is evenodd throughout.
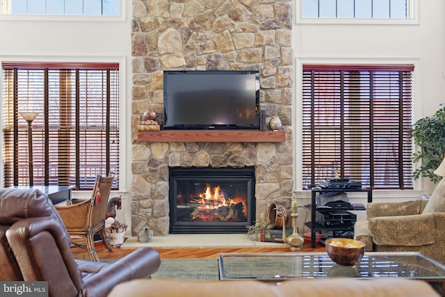
<path id="1" fill-rule="evenodd" d="M 369 232 L 378 246 L 426 246 L 435 243 L 434 214 L 383 216 L 369 220 Z"/>

